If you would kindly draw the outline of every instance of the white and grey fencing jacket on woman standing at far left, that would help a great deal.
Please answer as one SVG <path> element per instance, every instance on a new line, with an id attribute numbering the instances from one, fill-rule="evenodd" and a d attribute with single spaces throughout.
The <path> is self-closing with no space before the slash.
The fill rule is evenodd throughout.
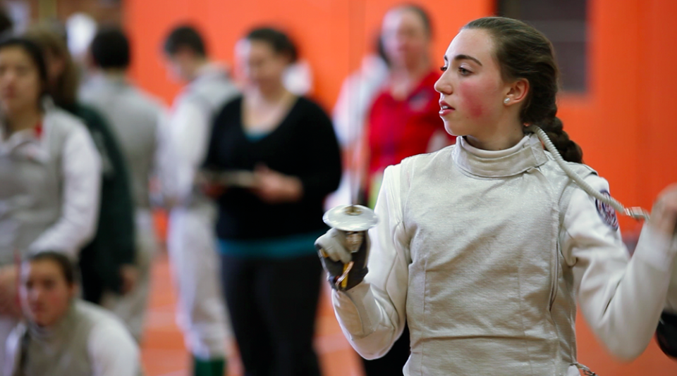
<path id="1" fill-rule="evenodd" d="M 96 232 L 101 157 L 78 118 L 47 104 L 42 127 L 0 126 L 0 265 L 14 252 L 78 257 Z"/>

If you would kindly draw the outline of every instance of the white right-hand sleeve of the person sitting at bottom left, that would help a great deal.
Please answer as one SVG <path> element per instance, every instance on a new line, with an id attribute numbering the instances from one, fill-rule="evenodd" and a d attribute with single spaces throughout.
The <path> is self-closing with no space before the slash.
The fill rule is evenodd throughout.
<path id="1" fill-rule="evenodd" d="M 140 375 L 139 347 L 123 325 L 114 320 L 92 329 L 87 341 L 92 376 Z"/>

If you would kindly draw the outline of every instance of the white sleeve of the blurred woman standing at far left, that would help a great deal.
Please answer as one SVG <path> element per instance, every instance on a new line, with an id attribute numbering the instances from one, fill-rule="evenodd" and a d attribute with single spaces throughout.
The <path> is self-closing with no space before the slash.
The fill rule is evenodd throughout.
<path id="1" fill-rule="evenodd" d="M 63 251 L 77 258 L 80 247 L 97 230 L 101 194 L 101 157 L 84 126 L 63 145 L 61 217 L 30 245 L 31 251 Z"/>

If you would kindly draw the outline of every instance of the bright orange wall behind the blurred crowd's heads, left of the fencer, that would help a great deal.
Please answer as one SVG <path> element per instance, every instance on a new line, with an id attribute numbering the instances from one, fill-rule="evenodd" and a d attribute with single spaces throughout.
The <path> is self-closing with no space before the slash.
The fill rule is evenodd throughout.
<path id="1" fill-rule="evenodd" d="M 438 57 L 444 54 L 448 36 L 468 19 L 492 9 L 486 0 L 444 1 L 444 7 L 440 1 L 418 2 L 439 10 L 432 14 L 438 39 L 444 41 L 434 46 Z M 125 22 L 138 59 L 133 74 L 142 86 L 171 101 L 178 87 L 166 82 L 159 51 L 173 25 L 195 23 L 207 35 L 212 55 L 231 62 L 233 45 L 250 27 L 272 24 L 295 39 L 314 70 L 316 98 L 331 108 L 343 78 L 359 65 L 365 42 L 371 46 L 382 15 L 392 4 L 391 0 L 128 0 Z"/>

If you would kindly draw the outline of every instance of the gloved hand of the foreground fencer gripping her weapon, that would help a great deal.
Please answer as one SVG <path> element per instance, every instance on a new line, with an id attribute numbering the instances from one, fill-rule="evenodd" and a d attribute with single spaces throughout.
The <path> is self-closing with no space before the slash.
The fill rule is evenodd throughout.
<path id="1" fill-rule="evenodd" d="M 315 248 L 332 288 L 346 291 L 365 279 L 370 249 L 366 231 L 345 232 L 332 228 L 317 238 Z"/>

